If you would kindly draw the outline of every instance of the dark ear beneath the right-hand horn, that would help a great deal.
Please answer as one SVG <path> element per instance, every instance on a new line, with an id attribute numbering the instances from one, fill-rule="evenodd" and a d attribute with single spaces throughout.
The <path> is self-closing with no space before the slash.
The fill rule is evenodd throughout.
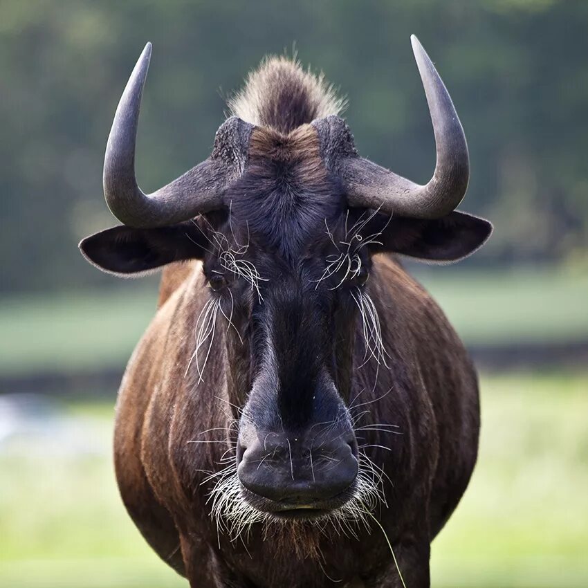
<path id="1" fill-rule="evenodd" d="M 457 210 L 433 220 L 392 217 L 382 234 L 374 237 L 381 244 L 372 244 L 371 251 L 449 263 L 468 257 L 479 249 L 492 230 L 488 221 Z"/>

